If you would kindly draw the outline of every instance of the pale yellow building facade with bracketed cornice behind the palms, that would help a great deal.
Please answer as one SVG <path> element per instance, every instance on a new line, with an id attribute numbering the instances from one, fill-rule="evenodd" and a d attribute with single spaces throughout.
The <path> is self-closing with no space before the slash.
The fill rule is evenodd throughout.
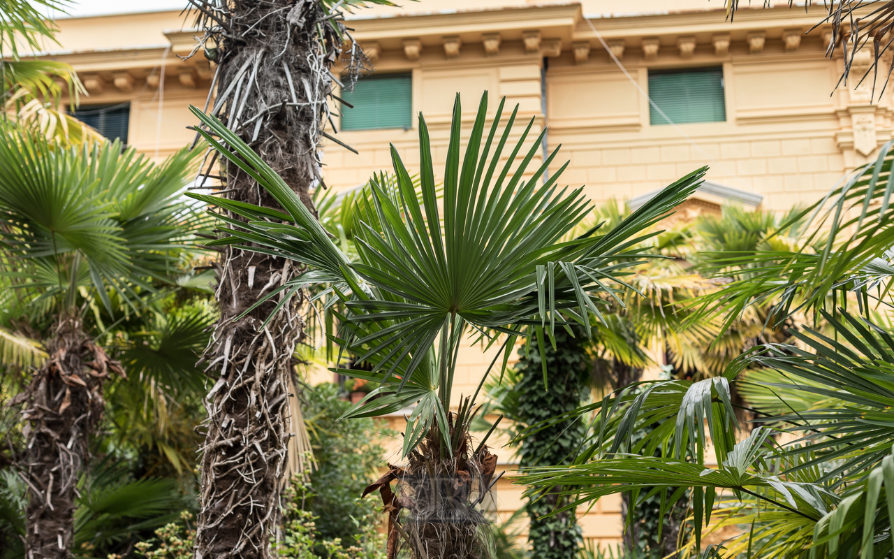
<path id="1" fill-rule="evenodd" d="M 421 0 L 358 9 L 347 25 L 377 75 L 407 76 L 407 110 L 426 116 L 435 168 L 446 155 L 455 94 L 471 123 L 486 89 L 492 110 L 506 97 L 507 106 L 518 104 L 519 123 L 533 119 L 533 137 L 547 127 L 544 149 L 561 145 L 551 172 L 569 161 L 561 182 L 586 185 L 597 203 L 635 206 L 710 165 L 708 182 L 682 212 L 716 211 L 728 201 L 785 210 L 821 198 L 892 138 L 892 89 L 880 96 L 880 83 L 873 97 L 871 78 L 856 85 L 869 56 L 858 53 L 853 78 L 836 89 L 843 63 L 840 55 L 825 57 L 831 31 L 805 35 L 822 20 L 822 6 L 743 9 L 731 22 L 707 0 L 668 7 L 659 0 Z M 201 52 L 181 58 L 195 43 L 189 16 L 129 13 L 57 24 L 60 45 L 39 55 L 77 70 L 89 91 L 83 114 L 123 111 L 127 143 L 153 157 L 193 140 L 188 106 L 205 106 L 213 68 Z M 705 88 L 680 98 L 673 76 L 692 72 L 705 78 Z M 651 105 L 649 96 L 660 102 Z M 702 103 L 713 104 L 713 112 L 696 110 Z M 658 108 L 683 120 L 691 109 L 702 122 L 667 123 Z M 326 146 L 326 184 L 340 191 L 388 169 L 389 143 L 414 167 L 415 122 L 345 126 L 352 129 L 338 138 L 359 153 Z M 464 349 L 454 394 L 473 392 L 492 359 Z M 512 469 L 510 457 L 503 462 Z M 520 506 L 519 488 L 501 480 L 497 493 L 502 514 Z M 617 541 L 619 512 L 616 498 L 581 512 L 585 537 Z"/>

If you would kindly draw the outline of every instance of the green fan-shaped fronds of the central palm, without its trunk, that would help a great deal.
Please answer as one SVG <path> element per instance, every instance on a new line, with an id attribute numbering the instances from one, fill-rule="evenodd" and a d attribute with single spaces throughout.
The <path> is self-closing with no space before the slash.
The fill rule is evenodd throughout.
<path id="1" fill-rule="evenodd" d="M 342 351 L 351 351 L 359 361 L 371 360 L 373 370 L 364 376 L 379 382 L 383 391 L 392 390 L 395 377 L 399 393 L 421 391 L 394 396 L 387 409 L 418 401 L 428 410 L 419 417 L 425 416 L 429 425 L 435 415 L 443 420 L 451 401 L 455 352 L 464 334 L 475 333 L 493 343 L 500 334 L 530 339 L 539 333 L 542 347 L 545 338 L 552 339 L 556 324 L 573 320 L 589 331 L 590 317 L 602 318 L 600 294 L 611 292 L 625 268 L 642 254 L 637 245 L 651 234 L 642 232 L 686 199 L 705 172 L 697 170 L 671 184 L 605 234 L 597 234 L 595 227 L 565 240 L 590 210 L 582 189 L 556 186 L 564 167 L 541 184 L 557 151 L 529 168 L 541 145 L 541 138 L 533 142 L 529 138 L 534 121 L 527 123 L 518 140 L 510 141 L 518 107 L 503 123 L 501 101 L 490 126 L 487 108 L 485 93 L 461 153 L 464 134 L 457 97 L 443 199 L 435 185 L 425 118 L 420 115 L 418 121 L 418 187 L 392 146 L 393 175 L 375 175 L 370 195 L 358 199 L 356 261 L 349 261 L 251 148 L 215 118 L 192 108 L 207 127 L 200 133 L 287 212 L 194 196 L 246 220 L 218 216 L 229 228 L 220 229 L 227 236 L 211 244 L 238 243 L 245 250 L 315 268 L 311 274 L 316 275 L 303 275 L 282 289 L 312 282 L 334 284 L 333 291 L 347 309 L 340 316 Z M 438 351 L 433 354 L 434 345 Z M 424 363 L 425 370 L 415 377 Z M 343 372 L 360 375 L 353 369 Z M 435 390 L 437 398 L 432 395 Z M 434 402 L 438 399 L 440 404 Z M 381 411 L 377 405 L 364 403 L 357 413 Z"/>

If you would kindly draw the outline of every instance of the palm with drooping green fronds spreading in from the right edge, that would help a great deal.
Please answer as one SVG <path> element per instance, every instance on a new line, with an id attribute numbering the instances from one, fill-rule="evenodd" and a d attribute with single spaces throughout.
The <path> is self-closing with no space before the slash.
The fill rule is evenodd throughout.
<path id="1" fill-rule="evenodd" d="M 591 407 L 603 412 L 595 429 L 604 436 L 596 436 L 574 467 L 530 470 L 526 481 L 561 485 L 572 504 L 622 490 L 615 484 L 648 488 L 662 495 L 662 512 L 681 495 L 672 487 L 688 487 L 694 541 L 686 543 L 693 553 L 712 518 L 712 528 L 750 525 L 724 544 L 730 554 L 890 553 L 890 147 L 826 199 L 790 217 L 792 223 L 811 216 L 809 234 L 793 246 L 769 243 L 713 258 L 718 274 L 730 267 L 748 273 L 707 295 L 702 312 L 725 312 L 726 322 L 735 323 L 744 310 L 772 301 L 770 325 L 805 313 L 806 324 L 790 331 L 797 343 L 759 345 L 722 377 L 653 383 L 642 394 L 618 394 Z M 814 327 L 821 322 L 830 335 Z M 764 370 L 747 371 L 755 366 Z M 738 444 L 731 382 L 748 387 L 761 423 Z M 652 424 L 658 426 L 652 433 L 632 441 L 639 426 Z M 705 424 L 717 464 L 709 469 Z M 773 433 L 794 440 L 778 444 Z M 652 457 L 659 448 L 663 457 Z M 724 489 L 731 495 L 715 508 L 717 491 Z"/>

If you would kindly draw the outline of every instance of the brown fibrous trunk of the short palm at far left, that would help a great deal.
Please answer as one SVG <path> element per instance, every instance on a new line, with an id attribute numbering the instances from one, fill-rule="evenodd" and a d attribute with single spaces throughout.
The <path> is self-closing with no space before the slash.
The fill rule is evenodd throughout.
<path id="1" fill-rule="evenodd" d="M 109 372 L 117 362 L 94 344 L 79 318 L 64 318 L 48 344 L 49 359 L 21 399 L 27 439 L 25 545 L 29 559 L 69 556 L 74 530 L 75 487 L 89 456 L 89 437 L 103 411 Z"/>

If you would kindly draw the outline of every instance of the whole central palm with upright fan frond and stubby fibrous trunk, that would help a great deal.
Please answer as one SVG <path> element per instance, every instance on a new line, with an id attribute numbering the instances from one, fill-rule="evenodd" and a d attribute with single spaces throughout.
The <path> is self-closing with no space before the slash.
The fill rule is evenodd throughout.
<path id="1" fill-rule="evenodd" d="M 196 195 L 246 220 L 222 216 L 229 227 L 220 231 L 227 236 L 209 244 L 238 244 L 242 250 L 308 267 L 256 307 L 274 297 L 283 305 L 305 284 L 332 284 L 346 308 L 339 313 L 336 341 L 342 351 L 372 364 L 371 371 L 335 370 L 379 385 L 346 417 L 416 406 L 404 432 L 407 468 L 392 467 L 367 487 L 367 492 L 380 491 L 389 512 L 389 557 L 401 547 L 413 557 L 430 559 L 486 555 L 478 528 L 482 518 L 474 506 L 495 481 L 496 457 L 485 441 L 472 446 L 468 435 L 477 394 L 460 395 L 456 412 L 450 407 L 455 355 L 463 335 L 470 331 L 488 345 L 502 339 L 506 352 L 523 337 L 537 343 L 541 353 L 545 343 L 554 340 L 557 325 L 579 322 L 589 335 L 590 316 L 601 316 L 595 294 L 611 290 L 609 285 L 616 284 L 625 267 L 615 262 L 634 258 L 637 235 L 685 199 L 704 174 L 701 169 L 671 184 L 611 232 L 588 231 L 562 241 L 586 216 L 589 205 L 581 189 L 555 186 L 561 173 L 540 185 L 555 152 L 527 174 L 540 139 L 523 157 L 519 151 L 526 146 L 533 121 L 501 165 L 518 111 L 498 134 L 503 103 L 486 130 L 485 93 L 462 157 L 457 97 L 440 200 L 428 130 L 420 115 L 421 192 L 392 147 L 393 176 L 375 176 L 371 203 L 360 208 L 363 224 L 355 237 L 356 261 L 339 250 L 288 183 L 245 142 L 213 116 L 192 109 L 207 127 L 199 129 L 202 135 L 287 212 Z M 548 384 L 546 369 L 542 372 Z M 401 479 L 412 493 L 397 498 L 390 486 L 393 479 Z M 408 509 L 409 516 L 401 515 L 402 509 Z"/>

